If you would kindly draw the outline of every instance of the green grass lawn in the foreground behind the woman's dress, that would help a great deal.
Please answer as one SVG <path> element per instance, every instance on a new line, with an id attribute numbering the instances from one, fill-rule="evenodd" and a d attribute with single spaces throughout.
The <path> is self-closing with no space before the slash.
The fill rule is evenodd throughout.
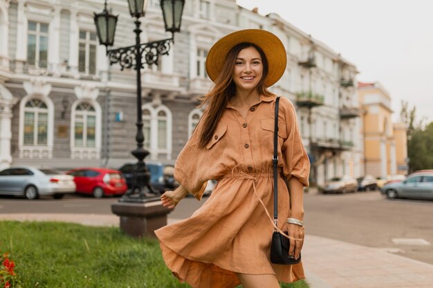
<path id="1" fill-rule="evenodd" d="M 134 239 L 115 227 L 0 221 L 0 252 L 5 251 L 23 288 L 190 287 L 165 267 L 157 240 Z"/>

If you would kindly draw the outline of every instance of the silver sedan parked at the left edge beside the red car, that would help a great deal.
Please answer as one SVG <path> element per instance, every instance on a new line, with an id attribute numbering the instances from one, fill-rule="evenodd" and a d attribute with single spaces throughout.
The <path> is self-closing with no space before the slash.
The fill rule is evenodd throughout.
<path id="1" fill-rule="evenodd" d="M 0 194 L 24 196 L 27 199 L 48 195 L 60 199 L 66 193 L 75 193 L 71 175 L 30 166 L 11 166 L 0 171 Z"/>

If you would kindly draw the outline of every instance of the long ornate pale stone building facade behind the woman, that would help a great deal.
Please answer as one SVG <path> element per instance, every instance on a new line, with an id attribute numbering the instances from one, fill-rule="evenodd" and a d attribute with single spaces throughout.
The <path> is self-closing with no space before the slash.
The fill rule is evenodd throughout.
<path id="1" fill-rule="evenodd" d="M 127 1 L 108 3 L 120 15 L 115 48 L 133 44 Z M 93 23 L 101 10 L 100 0 L 0 0 L 0 168 L 118 168 L 134 161 L 135 71 L 108 65 Z M 269 30 L 286 46 L 286 73 L 271 90 L 297 106 L 311 181 L 362 175 L 356 67 L 277 14 L 259 15 L 234 0 L 185 1 L 169 55 L 142 70 L 148 159 L 174 163 L 202 115 L 196 98 L 212 86 L 208 50 L 243 28 Z M 159 1 L 149 1 L 142 30 L 143 42 L 171 37 Z"/>

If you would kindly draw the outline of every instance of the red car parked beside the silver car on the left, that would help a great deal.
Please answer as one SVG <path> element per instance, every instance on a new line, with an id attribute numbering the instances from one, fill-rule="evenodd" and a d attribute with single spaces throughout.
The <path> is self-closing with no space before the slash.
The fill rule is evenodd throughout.
<path id="1" fill-rule="evenodd" d="M 128 189 L 125 178 L 113 169 L 79 168 L 66 174 L 74 177 L 77 193 L 92 194 L 95 198 L 102 198 L 104 195 L 123 195 Z"/>

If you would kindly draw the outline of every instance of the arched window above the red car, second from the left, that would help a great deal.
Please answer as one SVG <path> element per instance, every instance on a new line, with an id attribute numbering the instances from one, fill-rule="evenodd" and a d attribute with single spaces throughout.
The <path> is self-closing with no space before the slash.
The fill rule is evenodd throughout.
<path id="1" fill-rule="evenodd" d="M 96 146 L 96 112 L 87 102 L 75 108 L 74 146 L 95 148 Z"/>

